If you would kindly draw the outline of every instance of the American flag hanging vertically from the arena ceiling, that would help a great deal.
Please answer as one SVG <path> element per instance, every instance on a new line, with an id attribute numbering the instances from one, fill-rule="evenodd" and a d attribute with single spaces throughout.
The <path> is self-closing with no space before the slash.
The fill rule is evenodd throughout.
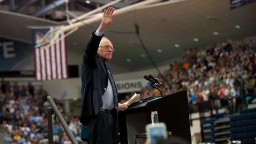
<path id="1" fill-rule="evenodd" d="M 53 38 L 54 29 L 56 28 L 32 29 L 37 80 L 62 79 L 69 75 L 64 32 L 59 33 L 56 43 L 47 43 Z"/>

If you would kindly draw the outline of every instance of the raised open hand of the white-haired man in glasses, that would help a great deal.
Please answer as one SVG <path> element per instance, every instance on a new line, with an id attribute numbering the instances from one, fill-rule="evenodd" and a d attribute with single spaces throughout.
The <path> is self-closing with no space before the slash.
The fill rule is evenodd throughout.
<path id="1" fill-rule="evenodd" d="M 115 9 L 113 7 L 108 7 L 108 9 L 104 10 L 101 24 L 98 28 L 99 31 L 104 31 L 104 29 L 113 21 L 114 11 Z"/>

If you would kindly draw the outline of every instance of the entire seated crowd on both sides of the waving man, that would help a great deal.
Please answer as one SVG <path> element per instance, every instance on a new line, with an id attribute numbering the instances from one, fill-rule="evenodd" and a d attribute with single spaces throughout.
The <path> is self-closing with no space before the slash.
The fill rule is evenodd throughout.
<path id="1" fill-rule="evenodd" d="M 187 90 L 190 110 L 230 106 L 237 110 L 243 95 L 256 92 L 256 45 L 251 39 L 234 43 L 207 46 L 206 50 L 185 49 L 182 62 L 174 62 L 170 69 L 158 75 L 169 93 Z M 146 86 L 140 91 L 141 99 L 160 95 L 159 91 Z M 47 92 L 35 92 L 28 85 L 1 81 L 0 90 L 0 139 L 7 143 L 47 143 Z M 129 97 L 126 97 L 127 101 Z M 70 130 L 79 141 L 79 118 L 68 117 L 61 103 L 55 100 Z M 230 105 L 228 105 L 230 104 Z M 53 135 L 56 143 L 71 143 L 58 118 L 53 114 Z"/>

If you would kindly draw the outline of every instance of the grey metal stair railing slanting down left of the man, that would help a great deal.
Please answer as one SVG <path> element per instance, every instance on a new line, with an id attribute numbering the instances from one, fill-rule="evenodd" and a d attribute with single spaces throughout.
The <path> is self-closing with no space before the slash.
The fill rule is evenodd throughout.
<path id="1" fill-rule="evenodd" d="M 74 137 L 73 133 L 70 131 L 68 124 L 66 123 L 63 116 L 60 114 L 60 110 L 56 106 L 55 102 L 53 101 L 50 95 L 47 96 L 47 101 L 50 103 L 51 107 L 47 108 L 47 125 L 48 125 L 48 140 L 49 144 L 53 144 L 53 127 L 52 127 L 52 114 L 55 113 L 63 126 L 64 130 L 66 131 L 69 140 L 73 144 L 78 144 L 76 138 Z"/>

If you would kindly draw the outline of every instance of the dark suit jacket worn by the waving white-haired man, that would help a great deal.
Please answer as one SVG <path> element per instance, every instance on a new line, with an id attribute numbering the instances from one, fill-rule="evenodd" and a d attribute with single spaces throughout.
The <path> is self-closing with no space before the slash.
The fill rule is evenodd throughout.
<path id="1" fill-rule="evenodd" d="M 90 117 L 99 113 L 103 106 L 102 95 L 108 86 L 108 71 L 105 61 L 97 53 L 102 36 L 93 32 L 83 56 L 82 77 L 82 109 L 80 122 L 86 124 Z"/>

